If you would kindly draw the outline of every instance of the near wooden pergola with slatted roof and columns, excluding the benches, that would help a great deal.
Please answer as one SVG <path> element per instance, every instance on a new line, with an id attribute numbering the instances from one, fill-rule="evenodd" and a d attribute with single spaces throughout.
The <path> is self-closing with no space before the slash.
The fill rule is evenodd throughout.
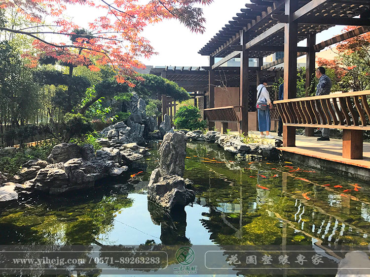
<path id="1" fill-rule="evenodd" d="M 296 98 L 297 57 L 307 55 L 306 87 L 315 71 L 315 53 L 327 46 L 370 31 L 369 0 L 251 0 L 200 51 L 209 56 L 210 106 L 214 100 L 215 70 L 240 57 L 240 129 L 248 132 L 249 58 L 263 70 L 284 62 L 284 99 Z M 316 44 L 316 34 L 335 25 L 358 26 L 354 31 Z M 360 27 L 361 26 L 361 27 Z M 307 39 L 305 47 L 297 43 Z M 262 64 L 263 57 L 284 51 L 284 59 Z M 215 63 L 215 58 L 222 58 Z M 284 111 L 282 111 L 284 112 Z M 296 126 L 284 125 L 284 146 L 295 146 Z"/>

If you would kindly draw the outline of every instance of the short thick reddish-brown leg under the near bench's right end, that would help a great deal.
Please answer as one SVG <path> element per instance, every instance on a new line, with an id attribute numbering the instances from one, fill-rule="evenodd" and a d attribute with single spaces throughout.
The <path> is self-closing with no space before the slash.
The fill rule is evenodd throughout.
<path id="1" fill-rule="evenodd" d="M 362 159 L 364 149 L 363 130 L 343 129 L 343 154 L 346 159 Z"/>

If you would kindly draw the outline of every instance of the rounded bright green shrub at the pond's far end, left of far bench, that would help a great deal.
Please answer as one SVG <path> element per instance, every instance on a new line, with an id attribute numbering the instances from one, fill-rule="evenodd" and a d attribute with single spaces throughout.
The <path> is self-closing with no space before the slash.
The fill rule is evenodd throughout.
<path id="1" fill-rule="evenodd" d="M 198 130 L 207 127 L 207 121 L 202 120 L 200 110 L 194 106 L 183 106 L 175 115 L 177 129 Z"/>

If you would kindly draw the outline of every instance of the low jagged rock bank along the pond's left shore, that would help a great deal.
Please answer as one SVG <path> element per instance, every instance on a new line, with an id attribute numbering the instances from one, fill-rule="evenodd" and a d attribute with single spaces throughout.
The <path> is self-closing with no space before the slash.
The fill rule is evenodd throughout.
<path id="1" fill-rule="evenodd" d="M 0 175 L 0 203 L 18 199 L 18 193 L 59 194 L 92 187 L 97 180 L 121 175 L 132 162 L 149 154 L 136 143 L 123 144 L 119 149 L 103 147 L 96 153 L 89 144 L 58 144 L 47 161 L 28 161 L 12 180 Z"/>

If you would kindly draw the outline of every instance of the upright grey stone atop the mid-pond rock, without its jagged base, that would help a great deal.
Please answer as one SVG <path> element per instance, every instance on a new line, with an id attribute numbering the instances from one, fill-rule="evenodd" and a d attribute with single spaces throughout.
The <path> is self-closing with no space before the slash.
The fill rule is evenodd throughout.
<path id="1" fill-rule="evenodd" d="M 167 133 L 159 148 L 161 176 L 183 176 L 185 170 L 186 136 L 183 132 Z"/>

